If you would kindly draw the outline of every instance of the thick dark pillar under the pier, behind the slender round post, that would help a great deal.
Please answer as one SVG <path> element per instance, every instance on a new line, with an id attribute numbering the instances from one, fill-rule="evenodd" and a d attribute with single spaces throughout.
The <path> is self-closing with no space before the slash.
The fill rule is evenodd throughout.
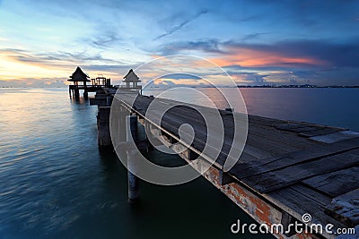
<path id="1" fill-rule="evenodd" d="M 109 134 L 109 113 L 111 107 L 99 107 L 97 114 L 97 142 L 99 147 L 112 147 Z"/>

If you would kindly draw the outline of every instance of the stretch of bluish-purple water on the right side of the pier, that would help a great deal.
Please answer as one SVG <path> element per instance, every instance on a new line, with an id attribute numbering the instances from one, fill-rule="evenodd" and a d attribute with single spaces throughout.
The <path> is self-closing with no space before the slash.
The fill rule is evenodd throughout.
<path id="1" fill-rule="evenodd" d="M 211 98 L 218 108 L 229 107 L 228 99 L 234 101 L 237 90 L 233 88 L 197 89 Z M 359 89 L 314 88 L 241 88 L 241 95 L 250 115 L 277 119 L 304 121 L 349 128 L 359 132 Z M 144 90 L 147 95 L 159 95 L 162 90 Z M 179 90 L 171 99 L 206 105 L 203 98 L 190 90 Z M 235 108 L 240 111 L 240 108 Z"/>

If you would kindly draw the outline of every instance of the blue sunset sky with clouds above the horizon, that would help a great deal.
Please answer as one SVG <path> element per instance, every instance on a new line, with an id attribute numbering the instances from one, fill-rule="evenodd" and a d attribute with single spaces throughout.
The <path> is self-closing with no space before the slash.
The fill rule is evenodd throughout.
<path id="1" fill-rule="evenodd" d="M 119 83 L 166 55 L 190 57 L 139 77 L 224 84 L 200 57 L 239 85 L 359 85 L 359 2 L 0 0 L 0 87 L 65 86 L 77 65 Z"/>

